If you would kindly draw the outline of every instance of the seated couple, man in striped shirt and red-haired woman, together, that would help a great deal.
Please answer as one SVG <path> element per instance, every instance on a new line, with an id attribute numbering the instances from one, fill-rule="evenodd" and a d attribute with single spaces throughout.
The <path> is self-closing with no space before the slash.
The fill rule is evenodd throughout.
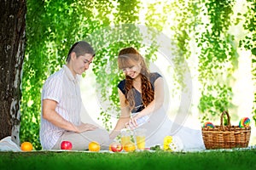
<path id="1" fill-rule="evenodd" d="M 90 141 L 108 150 L 108 145 L 125 127 L 146 128 L 146 147 L 162 144 L 166 135 L 176 135 L 184 149 L 205 148 L 199 130 L 181 127 L 172 134 L 174 123 L 162 107 L 163 78 L 159 73 L 148 71 L 143 56 L 135 48 L 123 48 L 119 52 L 118 65 L 125 73 L 125 80 L 118 84 L 121 113 L 113 131 L 109 134 L 105 129 L 81 122 L 79 76 L 89 68 L 94 56 L 88 42 L 74 43 L 67 54 L 67 65 L 44 82 L 40 125 L 44 150 L 60 150 L 63 140 L 71 141 L 73 150 L 87 150 Z"/>

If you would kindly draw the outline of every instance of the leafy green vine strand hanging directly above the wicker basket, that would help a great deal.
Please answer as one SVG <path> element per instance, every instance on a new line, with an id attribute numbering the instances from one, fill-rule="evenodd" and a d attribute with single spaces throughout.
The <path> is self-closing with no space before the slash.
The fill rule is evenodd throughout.
<path id="1" fill-rule="evenodd" d="M 196 38 L 199 54 L 199 81 L 201 99 L 199 109 L 201 120 L 216 120 L 222 111 L 230 109 L 232 88 L 230 81 L 237 60 L 236 48 L 232 45 L 234 37 L 228 32 L 230 15 L 233 13 L 234 0 L 206 1 L 205 29 Z"/>

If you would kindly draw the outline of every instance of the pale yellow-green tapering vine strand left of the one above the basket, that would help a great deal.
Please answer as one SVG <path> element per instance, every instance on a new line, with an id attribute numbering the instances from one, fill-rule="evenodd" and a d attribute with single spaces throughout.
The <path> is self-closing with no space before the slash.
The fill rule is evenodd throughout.
<path id="1" fill-rule="evenodd" d="M 176 58 L 173 59 L 175 65 L 176 77 L 175 81 L 177 88 L 182 88 L 184 91 L 186 84 L 184 82 L 185 73 L 189 71 L 185 62 L 186 59 L 191 57 L 193 48 L 190 47 L 191 39 L 195 34 L 195 27 L 200 23 L 200 11 L 201 7 L 197 1 L 182 1 L 176 0 L 171 4 L 169 10 L 172 9 L 175 17 L 172 22 L 174 23 L 171 30 L 174 31 L 173 40 L 176 43 L 177 48 L 172 50 L 176 54 Z"/>

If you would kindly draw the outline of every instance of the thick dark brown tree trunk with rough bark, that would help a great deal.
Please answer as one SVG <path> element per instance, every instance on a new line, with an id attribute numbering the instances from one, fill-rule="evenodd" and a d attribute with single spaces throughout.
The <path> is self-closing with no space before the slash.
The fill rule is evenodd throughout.
<path id="1" fill-rule="evenodd" d="M 20 145 L 26 0 L 0 0 L 0 3 L 0 139 L 12 136 L 12 140 Z"/>

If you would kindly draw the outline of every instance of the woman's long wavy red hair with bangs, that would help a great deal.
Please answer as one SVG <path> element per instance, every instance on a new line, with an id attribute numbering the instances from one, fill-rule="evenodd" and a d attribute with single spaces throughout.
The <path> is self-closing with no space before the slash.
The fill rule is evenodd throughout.
<path id="1" fill-rule="evenodd" d="M 143 56 L 137 52 L 135 48 L 123 48 L 119 52 L 118 65 L 119 69 L 129 68 L 131 66 L 141 64 L 142 69 L 140 76 L 142 79 L 142 99 L 143 105 L 146 107 L 154 100 L 154 90 L 149 81 L 148 67 L 143 59 Z M 132 90 L 133 79 L 129 76 L 125 76 L 125 103 L 129 104 L 130 110 L 135 106 L 134 92 Z"/>

